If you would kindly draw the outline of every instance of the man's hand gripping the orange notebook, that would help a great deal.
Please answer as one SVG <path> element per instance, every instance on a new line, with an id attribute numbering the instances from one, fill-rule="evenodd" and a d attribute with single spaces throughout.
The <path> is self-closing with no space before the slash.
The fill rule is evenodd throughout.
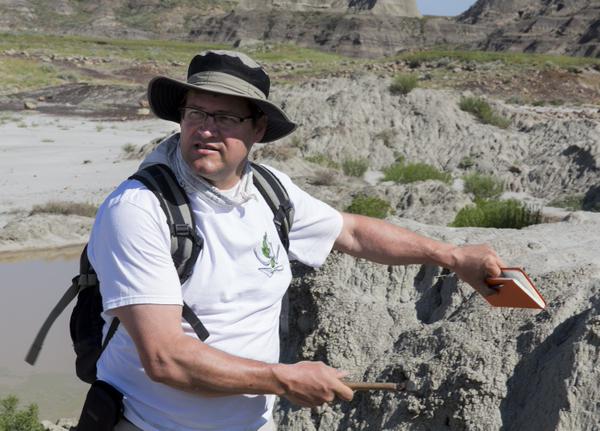
<path id="1" fill-rule="evenodd" d="M 485 284 L 488 277 L 498 277 L 506 266 L 487 245 L 466 245 L 452 250 L 454 264 L 449 268 L 483 296 L 496 293 Z"/>

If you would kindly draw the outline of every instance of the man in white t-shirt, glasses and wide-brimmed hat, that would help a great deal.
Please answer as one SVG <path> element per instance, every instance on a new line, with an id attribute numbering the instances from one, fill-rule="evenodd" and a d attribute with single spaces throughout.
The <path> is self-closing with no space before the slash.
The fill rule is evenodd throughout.
<path id="1" fill-rule="evenodd" d="M 98 361 L 98 378 L 125 398 L 117 430 L 273 430 L 275 396 L 300 406 L 351 400 L 345 374 L 319 362 L 279 364 L 278 316 L 291 272 L 287 256 L 261 271 L 265 239 L 281 243 L 273 214 L 251 180 L 248 153 L 295 129 L 268 99 L 269 78 L 247 56 L 194 57 L 187 82 L 153 79 L 148 99 L 181 133 L 144 162 L 165 163 L 188 194 L 204 248 L 182 286 L 165 215 L 134 180 L 101 206 L 88 255 L 105 316 L 119 330 Z M 455 247 L 384 221 L 343 214 L 274 172 L 294 205 L 289 257 L 317 267 L 339 250 L 386 265 L 450 268 L 482 293 L 502 262 L 487 246 Z M 283 253 L 285 254 L 285 253 Z M 182 321 L 185 300 L 210 332 L 200 341 Z"/>

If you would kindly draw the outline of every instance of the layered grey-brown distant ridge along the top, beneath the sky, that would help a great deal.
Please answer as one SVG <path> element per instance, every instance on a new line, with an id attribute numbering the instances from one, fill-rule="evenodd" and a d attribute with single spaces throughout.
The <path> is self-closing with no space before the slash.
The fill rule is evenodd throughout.
<path id="1" fill-rule="evenodd" d="M 436 45 L 600 57 L 600 0 L 479 0 L 456 18 L 416 0 L 3 0 L 0 31 L 293 43 L 357 57 Z"/>

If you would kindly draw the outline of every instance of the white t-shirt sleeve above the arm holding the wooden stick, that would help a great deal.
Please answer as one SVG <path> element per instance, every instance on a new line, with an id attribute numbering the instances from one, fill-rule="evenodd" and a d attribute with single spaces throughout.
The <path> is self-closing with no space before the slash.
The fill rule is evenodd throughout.
<path id="1" fill-rule="evenodd" d="M 102 204 L 88 245 L 105 310 L 183 304 L 166 218 L 151 191 L 128 181 Z"/>

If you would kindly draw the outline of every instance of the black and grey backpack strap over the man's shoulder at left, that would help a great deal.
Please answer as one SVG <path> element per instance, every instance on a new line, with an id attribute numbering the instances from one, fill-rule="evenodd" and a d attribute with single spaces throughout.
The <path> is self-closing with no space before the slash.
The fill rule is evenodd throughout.
<path id="1" fill-rule="evenodd" d="M 196 234 L 194 214 L 185 190 L 179 185 L 173 171 L 163 164 L 150 165 L 140 169 L 129 179 L 144 184 L 158 199 L 171 233 L 173 264 L 177 269 L 179 280 L 183 284 L 192 275 L 204 244 L 203 239 Z M 182 315 L 192 326 L 198 338 L 202 341 L 208 338 L 209 332 L 206 327 L 185 302 Z"/>

